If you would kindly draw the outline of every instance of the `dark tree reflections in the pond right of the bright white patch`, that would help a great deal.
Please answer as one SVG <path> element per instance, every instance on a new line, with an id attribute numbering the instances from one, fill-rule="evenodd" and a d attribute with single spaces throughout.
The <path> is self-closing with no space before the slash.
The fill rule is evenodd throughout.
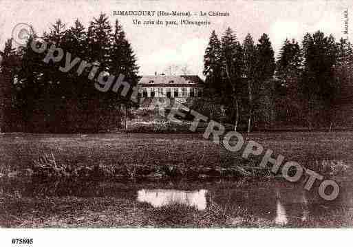
<path id="1" fill-rule="evenodd" d="M 339 222 L 347 222 L 347 218 L 351 219 L 347 224 L 352 225 L 353 217 L 347 215 L 350 200 L 342 199 L 348 196 L 343 193 L 343 197 L 335 202 L 327 202 L 311 192 L 301 186 L 283 184 L 267 188 L 213 189 L 209 192 L 211 199 L 208 199 L 208 206 L 217 205 L 230 217 L 248 215 L 268 219 L 279 226 L 325 225 L 330 221 L 339 225 Z"/>

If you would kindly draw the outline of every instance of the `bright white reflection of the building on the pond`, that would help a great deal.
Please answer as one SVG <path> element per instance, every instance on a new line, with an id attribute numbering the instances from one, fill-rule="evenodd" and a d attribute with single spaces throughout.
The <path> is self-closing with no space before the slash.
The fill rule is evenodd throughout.
<path id="1" fill-rule="evenodd" d="M 178 191 L 175 189 L 141 189 L 138 191 L 138 202 L 148 202 L 154 207 L 167 204 L 186 204 L 202 211 L 206 209 L 206 193 L 198 191 Z"/>

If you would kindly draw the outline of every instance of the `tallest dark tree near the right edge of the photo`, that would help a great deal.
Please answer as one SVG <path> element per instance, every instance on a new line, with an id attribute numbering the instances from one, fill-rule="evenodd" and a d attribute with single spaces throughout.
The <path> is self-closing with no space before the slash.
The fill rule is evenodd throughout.
<path id="1" fill-rule="evenodd" d="M 332 35 L 317 31 L 303 39 L 304 71 L 301 95 L 306 102 L 308 127 L 313 120 L 317 125 L 332 124 L 332 105 L 339 94 L 339 84 L 334 79 L 333 65 L 336 63 L 337 46 Z"/>

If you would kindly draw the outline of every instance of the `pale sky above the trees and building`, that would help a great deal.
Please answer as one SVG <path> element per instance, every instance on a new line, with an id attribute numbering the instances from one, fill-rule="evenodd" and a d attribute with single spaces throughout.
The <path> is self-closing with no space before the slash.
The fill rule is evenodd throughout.
<path id="1" fill-rule="evenodd" d="M 79 19 L 87 28 L 89 21 L 106 13 L 113 25 L 122 24 L 138 58 L 139 74 L 161 74 L 169 65 L 187 66 L 190 74 L 202 76 L 203 56 L 212 30 L 222 36 L 231 27 L 242 42 L 247 33 L 255 42 L 261 34 L 270 37 L 277 56 L 286 38 L 301 41 L 306 32 L 321 30 L 338 41 L 343 34 L 343 11 L 348 8 L 353 21 L 353 1 L 98 1 L 98 0 L 0 0 L 0 49 L 12 35 L 17 23 L 28 23 L 41 34 L 61 19 L 68 27 Z M 229 12 L 229 17 L 116 17 L 116 10 L 164 10 L 191 12 Z M 135 25 L 133 19 L 210 21 L 207 26 Z M 353 23 L 349 39 L 353 39 Z"/>

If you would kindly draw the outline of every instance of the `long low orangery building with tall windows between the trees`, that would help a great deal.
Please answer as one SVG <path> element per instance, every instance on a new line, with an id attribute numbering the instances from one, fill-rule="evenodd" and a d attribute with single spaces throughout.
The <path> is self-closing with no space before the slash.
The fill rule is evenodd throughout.
<path id="1" fill-rule="evenodd" d="M 141 76 L 139 95 L 142 98 L 197 98 L 202 96 L 204 82 L 199 76 Z"/>

